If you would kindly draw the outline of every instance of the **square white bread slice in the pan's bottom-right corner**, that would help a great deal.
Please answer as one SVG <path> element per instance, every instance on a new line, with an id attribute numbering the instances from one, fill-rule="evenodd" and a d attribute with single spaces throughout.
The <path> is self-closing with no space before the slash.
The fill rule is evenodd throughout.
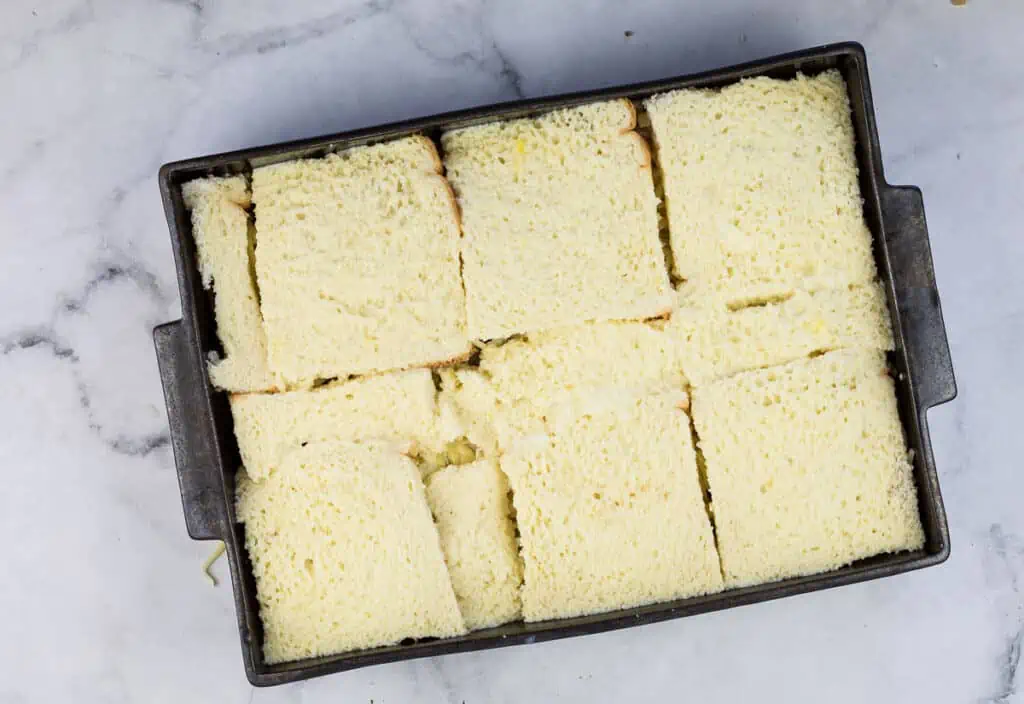
<path id="1" fill-rule="evenodd" d="M 726 586 L 924 544 L 886 371 L 882 352 L 842 350 L 696 389 Z"/>

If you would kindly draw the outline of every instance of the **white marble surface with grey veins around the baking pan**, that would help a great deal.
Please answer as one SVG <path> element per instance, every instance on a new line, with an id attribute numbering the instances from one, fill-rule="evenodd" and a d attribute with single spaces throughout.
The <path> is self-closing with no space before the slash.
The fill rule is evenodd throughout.
<path id="1" fill-rule="evenodd" d="M 1024 702 L 1020 0 L 293 4 L 0 3 L 0 702 Z M 167 446 L 158 167 L 844 39 L 868 50 L 890 180 L 925 190 L 961 390 L 931 413 L 949 562 L 250 688 Z"/>

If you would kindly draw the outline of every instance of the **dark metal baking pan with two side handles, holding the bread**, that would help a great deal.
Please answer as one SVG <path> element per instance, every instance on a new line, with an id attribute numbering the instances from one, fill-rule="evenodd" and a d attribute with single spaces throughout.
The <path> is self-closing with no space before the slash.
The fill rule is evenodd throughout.
<path id="1" fill-rule="evenodd" d="M 846 79 L 853 109 L 864 215 L 874 240 L 879 273 L 892 315 L 896 351 L 889 364 L 896 381 L 899 412 L 913 452 L 924 549 L 861 560 L 825 574 L 787 579 L 708 597 L 540 623 L 512 623 L 447 640 L 404 642 L 387 648 L 269 665 L 263 661 L 262 628 L 256 584 L 245 551 L 243 527 L 234 520 L 234 472 L 241 465 L 227 395 L 215 391 L 207 376 L 208 354 L 219 350 L 210 295 L 203 290 L 189 215 L 181 185 L 201 176 L 250 173 L 253 168 L 299 158 L 315 158 L 348 146 L 414 132 L 436 137 L 441 130 L 518 118 L 593 100 L 634 100 L 677 88 L 716 87 L 752 76 L 792 78 L 838 69 Z M 171 445 L 177 466 L 188 534 L 197 540 L 223 540 L 231 572 L 246 675 L 267 686 L 331 672 L 446 653 L 596 633 L 670 618 L 728 609 L 779 597 L 826 589 L 929 567 L 949 556 L 949 531 L 939 494 L 928 435 L 929 408 L 956 395 L 921 191 L 892 186 L 882 171 L 867 60 L 862 46 L 843 43 L 766 58 L 736 67 L 649 83 L 474 107 L 421 120 L 355 130 L 313 139 L 203 157 L 167 164 L 160 190 L 170 228 L 181 294 L 180 320 L 154 331 L 160 375 L 167 400 Z"/>

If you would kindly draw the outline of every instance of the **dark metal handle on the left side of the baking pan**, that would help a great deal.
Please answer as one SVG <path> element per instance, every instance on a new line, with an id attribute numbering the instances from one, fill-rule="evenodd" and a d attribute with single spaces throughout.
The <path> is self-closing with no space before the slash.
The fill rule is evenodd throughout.
<path id="1" fill-rule="evenodd" d="M 227 526 L 224 487 L 212 447 L 213 432 L 204 424 L 206 382 L 196 348 L 188 344 L 181 320 L 155 327 L 153 341 L 188 535 L 195 540 L 223 538 Z"/>

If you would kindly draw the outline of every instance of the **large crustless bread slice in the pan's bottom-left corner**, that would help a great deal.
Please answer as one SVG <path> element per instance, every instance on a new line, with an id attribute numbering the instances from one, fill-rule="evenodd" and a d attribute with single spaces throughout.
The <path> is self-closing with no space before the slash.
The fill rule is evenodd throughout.
<path id="1" fill-rule="evenodd" d="M 311 443 L 239 473 L 238 517 L 268 663 L 466 631 L 413 461 L 388 443 Z"/>

